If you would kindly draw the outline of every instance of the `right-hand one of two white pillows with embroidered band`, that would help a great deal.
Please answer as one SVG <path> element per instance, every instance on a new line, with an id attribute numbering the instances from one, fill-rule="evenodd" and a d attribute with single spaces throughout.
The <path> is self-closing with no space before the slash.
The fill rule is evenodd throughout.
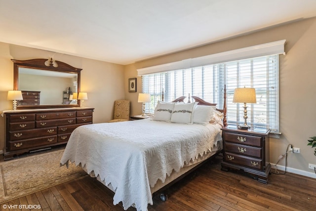
<path id="1" fill-rule="evenodd" d="M 193 124 L 193 111 L 196 106 L 197 102 L 174 104 L 170 122 Z"/>

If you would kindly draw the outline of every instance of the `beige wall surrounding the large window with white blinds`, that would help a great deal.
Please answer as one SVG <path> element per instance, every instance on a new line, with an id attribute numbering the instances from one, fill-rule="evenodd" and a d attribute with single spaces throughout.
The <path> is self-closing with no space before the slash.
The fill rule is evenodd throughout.
<path id="1" fill-rule="evenodd" d="M 300 154 L 288 155 L 288 170 L 315 176 L 308 164 L 316 164 L 314 150 L 307 140 L 316 135 L 316 18 L 290 23 L 253 34 L 216 42 L 197 48 L 169 54 L 125 66 L 125 79 L 137 76 L 137 68 L 144 68 L 183 59 L 219 53 L 237 48 L 286 40 L 286 55 L 280 55 L 279 64 L 279 116 L 280 138 L 270 138 L 270 162 L 275 164 L 284 154 L 288 144 L 301 149 Z M 141 78 L 137 77 L 137 92 L 141 92 Z M 141 114 L 137 93 L 125 97 L 133 105 L 131 114 Z M 285 166 L 285 160 L 279 165 Z"/>

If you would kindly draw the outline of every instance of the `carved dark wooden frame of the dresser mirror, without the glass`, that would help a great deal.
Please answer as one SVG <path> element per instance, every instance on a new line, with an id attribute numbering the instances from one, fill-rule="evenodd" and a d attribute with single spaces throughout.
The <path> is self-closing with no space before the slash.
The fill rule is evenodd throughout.
<path id="1" fill-rule="evenodd" d="M 13 66 L 13 90 L 19 90 L 19 67 L 32 68 L 38 70 L 50 70 L 64 73 L 75 73 L 77 74 L 77 92 L 80 92 L 80 71 L 82 69 L 75 68 L 69 64 L 61 61 L 53 61 L 52 58 L 49 61 L 49 66 L 45 65 L 48 59 L 30 59 L 30 60 L 15 60 L 11 59 L 14 63 Z M 57 63 L 58 67 L 54 67 L 53 64 Z M 41 109 L 41 108 L 70 108 L 79 107 L 80 100 L 77 104 L 51 104 L 51 105 L 19 105 L 17 109 Z"/>

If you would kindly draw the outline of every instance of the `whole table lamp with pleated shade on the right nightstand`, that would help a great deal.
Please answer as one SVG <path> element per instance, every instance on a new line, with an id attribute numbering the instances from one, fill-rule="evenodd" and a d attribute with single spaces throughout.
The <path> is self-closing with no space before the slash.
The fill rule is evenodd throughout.
<path id="1" fill-rule="evenodd" d="M 243 103 L 244 124 L 238 125 L 238 129 L 248 129 L 247 125 L 247 103 L 257 103 L 255 88 L 236 88 L 234 91 L 233 103 Z"/>

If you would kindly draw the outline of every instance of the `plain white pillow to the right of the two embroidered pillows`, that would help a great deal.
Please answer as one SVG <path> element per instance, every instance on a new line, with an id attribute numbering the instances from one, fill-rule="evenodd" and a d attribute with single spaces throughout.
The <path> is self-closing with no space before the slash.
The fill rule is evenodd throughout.
<path id="1" fill-rule="evenodd" d="M 213 117 L 213 106 L 197 105 L 193 113 L 193 123 L 207 125 Z"/>

